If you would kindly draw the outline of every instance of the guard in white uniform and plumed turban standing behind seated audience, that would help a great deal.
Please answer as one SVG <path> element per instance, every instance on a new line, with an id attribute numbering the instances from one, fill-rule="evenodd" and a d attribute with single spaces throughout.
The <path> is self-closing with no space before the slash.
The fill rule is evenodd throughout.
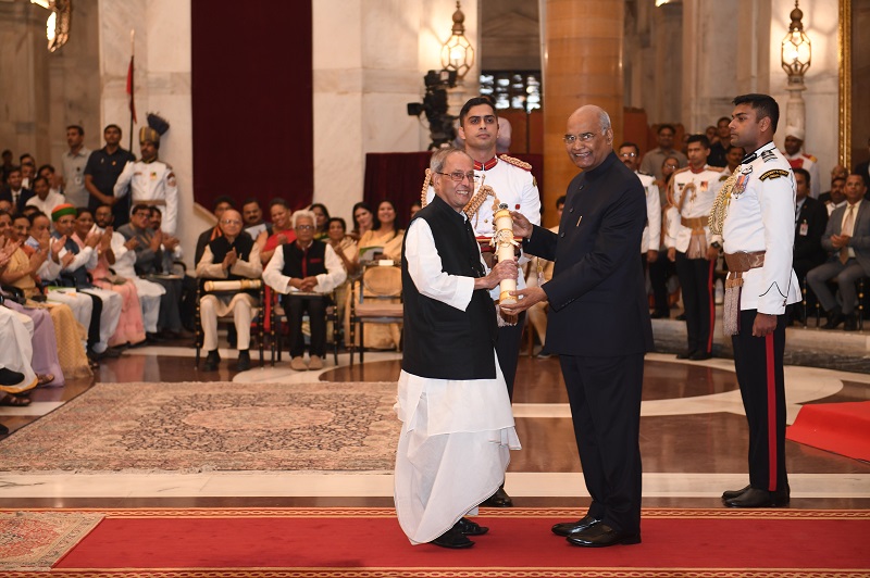
<path id="1" fill-rule="evenodd" d="M 158 160 L 160 134 L 149 126 L 139 129 L 140 161 L 127 163 L 115 183 L 114 196 L 130 191 L 130 205 L 158 205 L 163 213 L 161 229 L 175 236 L 178 218 L 178 186 L 172 167 Z"/>

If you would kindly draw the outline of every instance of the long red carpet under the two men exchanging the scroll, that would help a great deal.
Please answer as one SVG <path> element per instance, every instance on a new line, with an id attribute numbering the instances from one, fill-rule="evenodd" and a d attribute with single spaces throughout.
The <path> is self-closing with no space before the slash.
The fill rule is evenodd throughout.
<path id="1" fill-rule="evenodd" d="M 870 512 L 645 510 L 643 543 L 589 550 L 550 533 L 567 508 L 487 510 L 474 548 L 411 546 L 390 508 L 127 510 L 55 576 L 371 578 L 867 576 Z M 178 574 L 182 571 L 182 574 Z M 710 574 L 712 573 L 712 574 Z M 9 575 L 12 576 L 12 575 Z M 25 576 L 25 575 L 21 575 Z"/>

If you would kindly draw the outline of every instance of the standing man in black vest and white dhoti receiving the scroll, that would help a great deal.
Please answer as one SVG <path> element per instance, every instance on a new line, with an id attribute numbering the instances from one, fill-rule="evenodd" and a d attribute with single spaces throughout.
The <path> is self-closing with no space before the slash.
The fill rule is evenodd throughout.
<path id="1" fill-rule="evenodd" d="M 471 156 L 439 150 L 430 164 L 435 198 L 405 237 L 405 348 L 396 411 L 399 525 L 412 544 L 469 548 L 488 528 L 463 517 L 505 479 L 520 449 L 496 352 L 488 290 L 517 279 L 515 260 L 487 274 L 462 213 L 474 192 Z"/>

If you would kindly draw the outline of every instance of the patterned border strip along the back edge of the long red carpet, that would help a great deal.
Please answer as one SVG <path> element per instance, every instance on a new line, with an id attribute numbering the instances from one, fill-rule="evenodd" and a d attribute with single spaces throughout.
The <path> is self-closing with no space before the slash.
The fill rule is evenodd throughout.
<path id="1" fill-rule="evenodd" d="M 0 511 L 0 514 L 7 511 Z M 25 508 L 15 512 L 63 512 L 96 513 L 113 518 L 335 518 L 366 517 L 393 518 L 396 511 L 391 507 L 142 507 L 142 508 Z M 487 518 L 538 518 L 576 517 L 579 508 L 569 507 L 512 507 L 481 510 L 481 516 Z M 870 510 L 725 510 L 725 508 L 661 508 L 645 507 L 644 518 L 679 519 L 679 518 L 738 518 L 738 519 L 870 519 Z"/>

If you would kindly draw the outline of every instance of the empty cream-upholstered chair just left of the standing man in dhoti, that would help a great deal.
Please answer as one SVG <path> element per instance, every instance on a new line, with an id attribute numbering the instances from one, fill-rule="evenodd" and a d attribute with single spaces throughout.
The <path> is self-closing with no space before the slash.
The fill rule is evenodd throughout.
<path id="1" fill-rule="evenodd" d="M 401 268 L 394 264 L 374 262 L 363 265 L 362 274 L 350 286 L 350 365 L 357 349 L 356 329 L 360 332 L 360 363 L 365 351 L 366 323 L 401 324 L 405 306 L 401 303 Z M 399 347 L 401 349 L 401 345 Z"/>

